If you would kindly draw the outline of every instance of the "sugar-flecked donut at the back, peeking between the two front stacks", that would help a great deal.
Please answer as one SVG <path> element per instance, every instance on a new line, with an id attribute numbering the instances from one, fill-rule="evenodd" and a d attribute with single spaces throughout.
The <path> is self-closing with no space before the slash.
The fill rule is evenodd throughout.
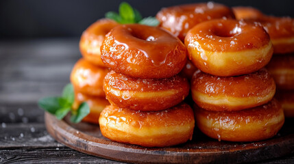
<path id="1" fill-rule="evenodd" d="M 234 18 L 234 13 L 225 5 L 208 2 L 162 8 L 156 18 L 160 21 L 160 27 L 184 40 L 189 29 L 198 23 L 215 18 Z"/>

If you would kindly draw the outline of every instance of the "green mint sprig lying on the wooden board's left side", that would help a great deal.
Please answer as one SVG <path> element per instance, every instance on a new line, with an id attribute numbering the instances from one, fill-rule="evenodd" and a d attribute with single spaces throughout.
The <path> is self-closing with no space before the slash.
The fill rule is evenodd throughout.
<path id="1" fill-rule="evenodd" d="M 62 120 L 71 111 L 71 122 L 78 123 L 90 113 L 90 107 L 86 102 L 82 102 L 79 108 L 74 111 L 71 108 L 75 100 L 74 95 L 73 85 L 69 83 L 64 87 L 62 96 L 40 98 L 38 105 L 45 111 L 56 115 L 58 120 Z"/>

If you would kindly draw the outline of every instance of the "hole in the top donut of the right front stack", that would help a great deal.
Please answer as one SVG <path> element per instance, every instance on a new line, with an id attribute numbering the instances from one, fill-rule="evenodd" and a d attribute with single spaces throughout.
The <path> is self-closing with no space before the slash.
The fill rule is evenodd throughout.
<path id="1" fill-rule="evenodd" d="M 234 27 L 225 27 L 223 24 L 218 25 L 214 29 L 212 29 L 212 33 L 215 36 L 223 37 L 223 38 L 228 38 L 232 36 L 236 36 L 239 33 L 241 33 L 242 29 L 238 26 Z"/>

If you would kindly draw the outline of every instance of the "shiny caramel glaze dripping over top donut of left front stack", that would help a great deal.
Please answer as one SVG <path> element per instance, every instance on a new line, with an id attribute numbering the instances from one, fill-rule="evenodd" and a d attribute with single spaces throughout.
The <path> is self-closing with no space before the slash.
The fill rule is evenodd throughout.
<path id="1" fill-rule="evenodd" d="M 145 31 L 145 32 L 142 32 Z M 167 55 L 177 47 L 178 41 L 165 32 L 146 29 L 136 25 L 123 25 L 112 31 L 114 42 L 125 50 L 138 50 L 149 58 L 154 66 L 160 66 L 167 60 Z M 177 49 L 177 48 L 175 48 Z M 115 50 L 114 50 L 115 51 Z"/>

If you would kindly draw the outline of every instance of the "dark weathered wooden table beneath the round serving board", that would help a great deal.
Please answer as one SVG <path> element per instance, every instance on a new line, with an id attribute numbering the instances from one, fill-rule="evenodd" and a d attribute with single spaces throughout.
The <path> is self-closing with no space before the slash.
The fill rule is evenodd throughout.
<path id="1" fill-rule="evenodd" d="M 0 163 L 119 163 L 56 142 L 36 105 L 60 94 L 79 57 L 78 38 L 0 41 Z M 294 154 L 259 163 L 294 163 Z"/>

